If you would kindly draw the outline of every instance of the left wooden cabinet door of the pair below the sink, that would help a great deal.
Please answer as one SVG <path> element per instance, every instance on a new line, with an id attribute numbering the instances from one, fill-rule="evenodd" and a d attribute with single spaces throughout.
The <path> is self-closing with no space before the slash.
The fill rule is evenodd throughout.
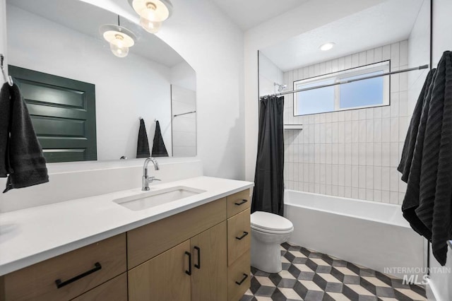
<path id="1" fill-rule="evenodd" d="M 190 252 L 190 240 L 132 268 L 129 301 L 190 301 L 191 277 L 186 273 L 190 269 L 186 252 Z"/>

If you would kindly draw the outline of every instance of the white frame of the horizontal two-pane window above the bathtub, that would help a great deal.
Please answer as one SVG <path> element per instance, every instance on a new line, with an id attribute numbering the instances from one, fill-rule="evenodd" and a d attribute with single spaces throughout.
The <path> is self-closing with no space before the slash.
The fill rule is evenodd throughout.
<path id="1" fill-rule="evenodd" d="M 321 81 L 325 81 L 328 79 L 333 79 L 335 83 L 338 83 L 340 81 L 344 81 L 344 78 L 350 78 L 353 76 L 359 76 L 364 75 L 367 73 L 374 73 L 377 71 L 382 71 L 383 73 L 388 73 L 391 70 L 391 61 L 380 61 L 378 63 L 369 64 L 365 66 L 359 66 L 352 69 L 347 69 L 343 71 L 338 71 L 334 73 L 328 73 L 321 76 L 315 76 L 312 78 L 302 79 L 299 81 L 294 81 L 293 88 L 294 90 L 299 90 L 301 87 L 299 85 L 306 85 L 311 83 L 318 83 Z M 326 112 L 336 112 L 336 111 L 345 111 L 345 110 L 355 110 L 355 109 L 364 109 L 367 107 L 383 107 L 386 105 L 389 105 L 390 103 L 390 85 L 391 85 L 391 79 L 390 76 L 383 76 L 383 103 L 381 105 L 362 105 L 357 107 L 345 107 L 340 108 L 340 85 L 334 85 L 334 110 L 333 111 L 326 111 Z M 297 114 L 298 112 L 298 102 L 297 102 L 297 93 L 294 93 L 294 116 L 302 116 L 302 115 L 309 115 L 309 114 L 321 114 L 326 112 L 318 112 L 318 113 L 309 113 L 309 114 Z"/>

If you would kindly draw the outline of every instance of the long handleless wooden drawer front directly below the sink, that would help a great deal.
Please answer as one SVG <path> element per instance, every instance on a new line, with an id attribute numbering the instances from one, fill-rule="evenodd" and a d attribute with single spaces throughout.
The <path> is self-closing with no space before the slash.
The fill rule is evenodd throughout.
<path id="1" fill-rule="evenodd" d="M 129 268 L 226 220 L 226 199 L 169 216 L 127 232 Z"/>

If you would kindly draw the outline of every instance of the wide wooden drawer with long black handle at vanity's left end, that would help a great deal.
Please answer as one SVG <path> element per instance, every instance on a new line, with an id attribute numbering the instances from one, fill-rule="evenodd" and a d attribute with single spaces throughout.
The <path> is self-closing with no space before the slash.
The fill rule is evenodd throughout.
<path id="1" fill-rule="evenodd" d="M 126 235 L 121 234 L 7 274 L 4 293 L 15 301 L 70 300 L 125 271 Z M 83 273 L 88 275 L 64 285 Z"/>

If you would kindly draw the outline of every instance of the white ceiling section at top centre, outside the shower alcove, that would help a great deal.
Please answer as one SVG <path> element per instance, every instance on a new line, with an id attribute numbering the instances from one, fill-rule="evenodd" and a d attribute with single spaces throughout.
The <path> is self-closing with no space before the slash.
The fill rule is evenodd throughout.
<path id="1" fill-rule="evenodd" d="M 309 0 L 212 0 L 220 9 L 239 25 L 249 30 L 270 18 L 290 11 Z"/>

